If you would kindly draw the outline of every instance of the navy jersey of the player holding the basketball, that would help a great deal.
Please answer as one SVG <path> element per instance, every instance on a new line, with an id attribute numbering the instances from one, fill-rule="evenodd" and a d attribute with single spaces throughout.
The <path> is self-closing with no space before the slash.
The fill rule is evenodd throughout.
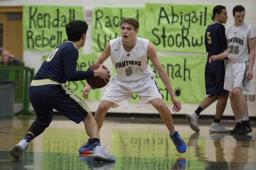
<path id="1" fill-rule="evenodd" d="M 93 70 L 77 71 L 77 60 L 78 50 L 72 42 L 67 41 L 48 55 L 34 76 L 34 80 L 50 78 L 62 84 L 67 81 L 78 81 L 94 77 Z"/>

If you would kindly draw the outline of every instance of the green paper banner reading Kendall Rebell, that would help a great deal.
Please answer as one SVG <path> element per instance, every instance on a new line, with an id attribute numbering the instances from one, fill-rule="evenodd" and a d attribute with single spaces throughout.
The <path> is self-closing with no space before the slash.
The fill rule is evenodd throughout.
<path id="1" fill-rule="evenodd" d="M 52 51 L 67 41 L 66 24 L 83 20 L 82 6 L 23 6 L 23 49 Z"/>

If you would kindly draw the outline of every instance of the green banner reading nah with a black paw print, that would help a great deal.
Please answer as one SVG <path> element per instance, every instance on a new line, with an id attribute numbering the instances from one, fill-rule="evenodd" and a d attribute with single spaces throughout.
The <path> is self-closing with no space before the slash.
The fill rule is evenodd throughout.
<path id="1" fill-rule="evenodd" d="M 181 103 L 200 104 L 205 97 L 204 69 L 206 56 L 159 56 L 160 63 L 166 69 L 172 88 Z M 164 103 L 172 104 L 170 95 L 151 61 L 149 64 L 156 73 L 154 78 L 158 84 Z M 138 103 L 139 96 L 132 94 L 131 103 Z"/>

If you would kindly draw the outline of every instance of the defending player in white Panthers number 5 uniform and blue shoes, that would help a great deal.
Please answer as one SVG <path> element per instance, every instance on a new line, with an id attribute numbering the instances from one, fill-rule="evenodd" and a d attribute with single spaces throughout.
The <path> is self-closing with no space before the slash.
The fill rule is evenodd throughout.
<path id="1" fill-rule="evenodd" d="M 120 22 L 120 26 L 122 37 L 110 40 L 100 57 L 95 61 L 95 63 L 103 64 L 111 55 L 110 58 L 116 70 L 116 74 L 110 80 L 109 86 L 106 88 L 106 92 L 94 115 L 98 128 L 102 127 L 104 117 L 110 107 L 123 106 L 127 108 L 132 93 L 134 93 L 140 96 L 138 107 L 150 102 L 156 108 L 169 129 L 170 138 L 177 151 L 180 153 L 186 152 L 187 145 L 174 129 L 170 109 L 164 104 L 161 92 L 154 80 L 156 75 L 148 64 L 148 59 L 150 59 L 166 86 L 174 104 L 172 110 L 175 112 L 180 111 L 180 101 L 174 94 L 170 78 L 158 60 L 154 46 L 148 39 L 136 37 L 139 28 L 137 20 L 125 18 Z M 83 90 L 85 99 L 88 98 L 89 92 L 90 86 L 87 84 Z M 79 152 L 87 149 L 90 150 L 90 143 L 81 147 Z"/>

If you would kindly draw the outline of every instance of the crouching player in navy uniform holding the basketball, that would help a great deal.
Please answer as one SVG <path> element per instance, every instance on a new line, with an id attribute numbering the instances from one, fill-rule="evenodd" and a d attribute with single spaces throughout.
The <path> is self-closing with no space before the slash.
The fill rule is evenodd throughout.
<path id="1" fill-rule="evenodd" d="M 102 66 L 98 70 L 77 71 L 78 49 L 84 46 L 88 24 L 85 21 L 70 21 L 66 25 L 68 41 L 58 46 L 48 55 L 34 76 L 29 98 L 36 112 L 36 120 L 28 129 L 24 139 L 10 149 L 10 154 L 18 159 L 28 148 L 29 143 L 43 133 L 52 121 L 53 109 L 64 114 L 68 119 L 84 126 L 92 139 L 95 161 L 115 161 L 115 156 L 103 150 L 100 145 L 97 123 L 87 107 L 66 85 L 67 81 L 85 80 L 99 76 L 109 80 L 109 70 Z"/>

